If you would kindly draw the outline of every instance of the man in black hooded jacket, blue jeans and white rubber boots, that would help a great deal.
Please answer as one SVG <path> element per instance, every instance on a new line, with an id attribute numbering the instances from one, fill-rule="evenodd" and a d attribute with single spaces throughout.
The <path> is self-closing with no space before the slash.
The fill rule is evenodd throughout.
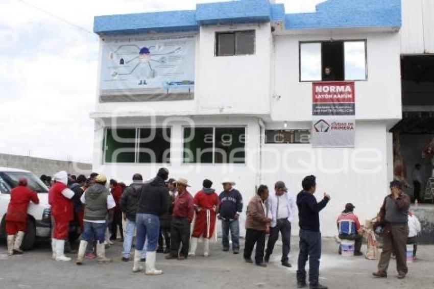
<path id="1" fill-rule="evenodd" d="M 133 272 L 141 271 L 139 266 L 144 241 L 148 238 L 146 275 L 160 275 L 163 272 L 155 269 L 155 258 L 160 233 L 160 216 L 168 210 L 168 194 L 165 184 L 169 171 L 162 167 L 157 176 L 148 184 L 143 185 L 137 207 L 136 226 L 137 242 L 134 251 Z"/>

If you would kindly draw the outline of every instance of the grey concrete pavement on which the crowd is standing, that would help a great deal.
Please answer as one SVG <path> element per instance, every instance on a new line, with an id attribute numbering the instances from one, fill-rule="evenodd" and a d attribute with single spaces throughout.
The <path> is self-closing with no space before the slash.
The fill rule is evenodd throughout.
<path id="1" fill-rule="evenodd" d="M 243 255 L 222 252 L 220 244 L 212 244 L 211 256 L 190 257 L 185 261 L 165 260 L 158 254 L 160 276 L 132 273 L 132 262 L 120 260 L 121 243 L 107 250 L 114 262 L 98 264 L 86 260 L 84 266 L 74 262 L 61 263 L 51 259 L 50 244 L 37 247 L 21 256 L 7 256 L 0 247 L 0 288 L 73 289 L 73 288 L 296 288 L 297 238 L 293 238 L 291 262 L 287 269 L 280 265 L 281 247 L 276 246 L 268 268 L 247 264 Z M 199 244 L 198 253 L 201 251 Z M 396 278 L 395 261 L 391 261 L 388 279 L 374 279 L 377 261 L 364 257 L 342 257 L 336 254 L 333 239 L 323 240 L 321 280 L 329 288 L 433 288 L 434 246 L 420 246 L 418 260 L 409 265 L 406 279 Z M 74 259 L 76 258 L 73 255 Z"/>

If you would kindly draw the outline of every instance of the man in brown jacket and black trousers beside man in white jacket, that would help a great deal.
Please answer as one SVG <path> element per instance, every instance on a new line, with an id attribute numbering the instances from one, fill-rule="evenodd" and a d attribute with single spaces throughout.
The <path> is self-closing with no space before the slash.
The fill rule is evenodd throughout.
<path id="1" fill-rule="evenodd" d="M 253 263 L 251 258 L 253 247 L 256 244 L 255 264 L 260 267 L 267 267 L 263 260 L 265 247 L 265 235 L 268 224 L 271 220 L 267 217 L 266 201 L 268 199 L 268 187 L 260 185 L 257 195 L 250 200 L 247 206 L 246 219 L 246 244 L 244 248 L 244 260 Z"/>

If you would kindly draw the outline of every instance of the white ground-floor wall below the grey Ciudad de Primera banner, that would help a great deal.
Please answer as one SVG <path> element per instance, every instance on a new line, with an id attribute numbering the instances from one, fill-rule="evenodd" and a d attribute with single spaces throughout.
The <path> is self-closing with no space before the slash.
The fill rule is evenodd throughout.
<path id="1" fill-rule="evenodd" d="M 336 235 L 336 218 L 346 203 L 356 206 L 355 213 L 364 223 L 375 217 L 388 193 L 386 125 L 362 121 L 356 126 L 354 149 L 312 149 L 311 144 L 266 144 L 264 148 L 266 184 L 273 187 L 277 180 L 283 180 L 296 196 L 302 179 L 315 175 L 318 201 L 323 192 L 330 194 L 329 204 L 320 213 L 324 236 Z M 288 123 L 288 128 L 305 127 Z M 293 234 L 298 234 L 298 219 L 293 220 Z"/>

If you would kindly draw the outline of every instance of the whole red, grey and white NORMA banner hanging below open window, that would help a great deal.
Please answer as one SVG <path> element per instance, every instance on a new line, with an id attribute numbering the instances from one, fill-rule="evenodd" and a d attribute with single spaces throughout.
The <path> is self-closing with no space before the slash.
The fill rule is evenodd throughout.
<path id="1" fill-rule="evenodd" d="M 354 148 L 354 82 L 312 83 L 312 146 Z"/>

